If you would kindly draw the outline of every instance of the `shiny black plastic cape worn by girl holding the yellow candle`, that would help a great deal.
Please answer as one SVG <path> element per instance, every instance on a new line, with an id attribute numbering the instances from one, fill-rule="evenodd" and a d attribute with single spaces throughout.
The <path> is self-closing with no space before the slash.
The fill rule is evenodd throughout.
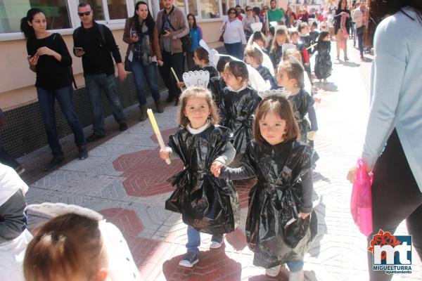
<path id="1" fill-rule="evenodd" d="M 184 163 L 184 170 L 169 179 L 176 190 L 165 202 L 165 209 L 182 214 L 184 223 L 202 233 L 230 233 L 240 223 L 233 183 L 210 172 L 212 162 L 231 140 L 229 129 L 212 125 L 195 135 L 179 128 L 170 136 L 169 145 Z"/>

